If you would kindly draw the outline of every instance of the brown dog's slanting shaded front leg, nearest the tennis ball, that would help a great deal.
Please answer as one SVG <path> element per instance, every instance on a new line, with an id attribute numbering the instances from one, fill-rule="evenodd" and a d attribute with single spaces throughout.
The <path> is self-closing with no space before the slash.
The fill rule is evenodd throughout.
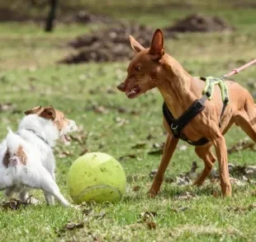
<path id="1" fill-rule="evenodd" d="M 172 134 L 168 134 L 167 140 L 164 146 L 164 154 L 162 157 L 162 161 L 159 165 L 159 169 L 154 176 L 153 184 L 149 189 L 149 197 L 154 198 L 157 193 L 159 193 L 159 189 L 164 180 L 164 173 L 168 167 L 168 164 L 173 156 L 173 152 L 178 144 L 178 138 L 173 137 Z"/>

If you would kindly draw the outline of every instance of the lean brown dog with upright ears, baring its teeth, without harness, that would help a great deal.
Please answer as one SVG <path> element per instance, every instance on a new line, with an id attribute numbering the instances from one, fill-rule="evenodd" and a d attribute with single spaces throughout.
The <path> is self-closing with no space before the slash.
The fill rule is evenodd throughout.
<path id="1" fill-rule="evenodd" d="M 206 83 L 189 75 L 173 57 L 164 54 L 164 35 L 161 30 L 155 31 L 149 49 L 141 46 L 132 36 L 130 36 L 130 44 L 136 55 L 128 67 L 126 81 L 117 86 L 120 91 L 126 92 L 128 98 L 135 98 L 158 87 L 175 119 L 178 119 L 195 100 L 201 98 Z M 219 162 L 221 192 L 223 196 L 228 197 L 231 195 L 231 185 L 224 134 L 235 123 L 256 142 L 256 107 L 253 97 L 242 86 L 233 81 L 225 81 L 225 83 L 230 94 L 230 105 L 227 105 L 222 116 L 221 128 L 219 122 L 223 102 L 220 88 L 215 86 L 212 100 L 206 100 L 205 109 L 183 128 L 182 133 L 192 142 L 203 137 L 209 141 L 206 145 L 197 146 L 195 149 L 197 156 L 204 161 L 205 168 L 194 184 L 201 185 L 211 172 L 216 161 L 216 157 L 211 152 L 213 145 Z M 159 170 L 149 189 L 149 195 L 152 197 L 159 193 L 164 172 L 179 140 L 173 137 L 166 119 L 164 119 L 164 127 L 168 131 L 168 137 Z"/>

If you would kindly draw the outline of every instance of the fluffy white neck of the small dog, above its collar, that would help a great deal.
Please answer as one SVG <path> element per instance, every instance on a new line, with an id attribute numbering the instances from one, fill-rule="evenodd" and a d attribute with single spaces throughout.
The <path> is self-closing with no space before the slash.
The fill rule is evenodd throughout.
<path id="1" fill-rule="evenodd" d="M 55 125 L 47 119 L 38 117 L 36 114 L 30 114 L 21 120 L 18 128 L 18 133 L 30 133 L 30 136 L 38 136 L 42 142 L 45 140 L 45 145 L 50 147 L 55 146 L 55 141 L 59 137 L 59 131 Z M 32 131 L 32 132 L 31 132 Z"/>

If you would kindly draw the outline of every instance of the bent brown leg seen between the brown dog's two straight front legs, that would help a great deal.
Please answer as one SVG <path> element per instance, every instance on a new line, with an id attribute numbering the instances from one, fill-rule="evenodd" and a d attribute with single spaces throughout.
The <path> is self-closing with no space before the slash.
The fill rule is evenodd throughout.
<path id="1" fill-rule="evenodd" d="M 205 163 L 204 170 L 194 182 L 194 185 L 201 186 L 201 184 L 203 184 L 203 182 L 205 181 L 206 177 L 210 174 L 212 166 L 216 161 L 216 156 L 214 156 L 211 152 L 211 145 L 208 145 L 206 147 L 196 147 L 195 151 L 197 153 L 197 156 L 201 158 L 201 160 Z"/>

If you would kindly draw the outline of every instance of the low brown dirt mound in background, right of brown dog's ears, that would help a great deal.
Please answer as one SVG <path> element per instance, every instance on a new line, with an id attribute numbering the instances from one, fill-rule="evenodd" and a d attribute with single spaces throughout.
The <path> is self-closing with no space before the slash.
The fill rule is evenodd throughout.
<path id="1" fill-rule="evenodd" d="M 218 16 L 203 16 L 194 14 L 178 21 L 173 26 L 165 28 L 167 32 L 220 32 L 235 30 L 224 19 Z"/>

